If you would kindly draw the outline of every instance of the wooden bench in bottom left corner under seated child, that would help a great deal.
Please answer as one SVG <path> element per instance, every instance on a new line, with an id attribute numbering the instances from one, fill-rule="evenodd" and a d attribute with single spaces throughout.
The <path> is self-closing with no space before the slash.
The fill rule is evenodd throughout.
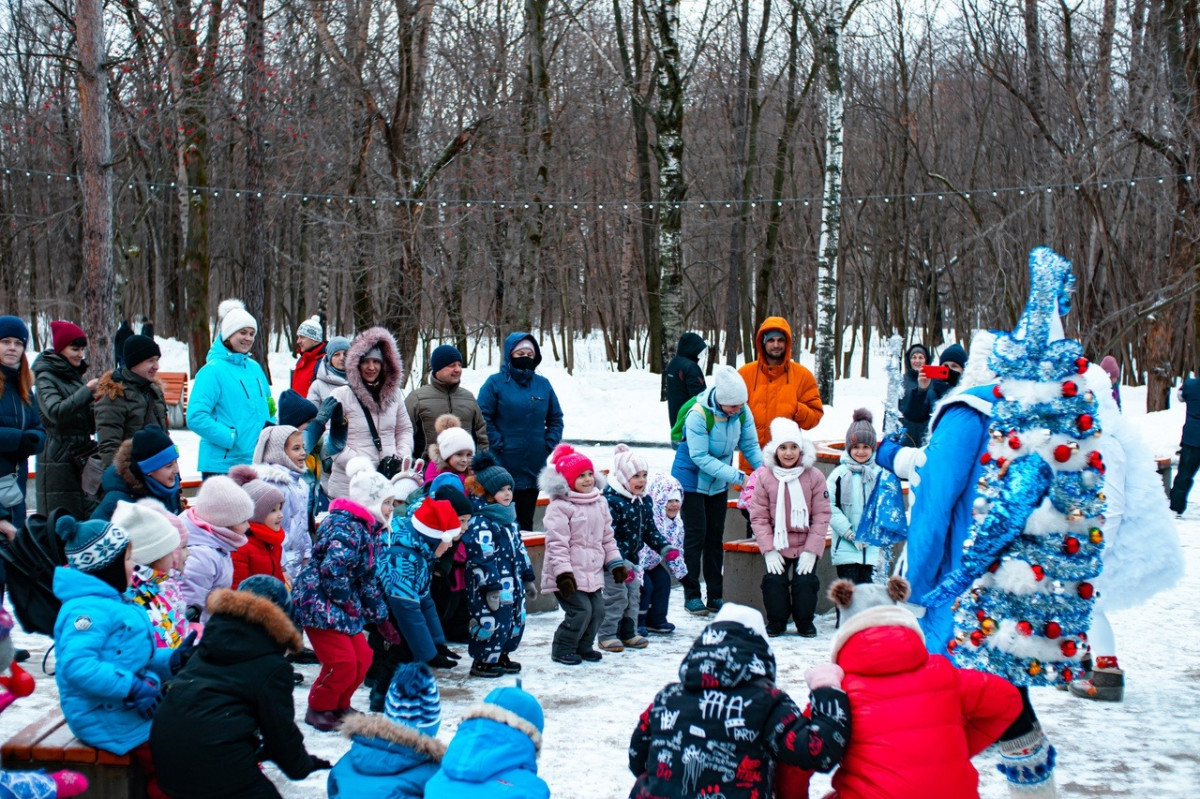
<path id="1" fill-rule="evenodd" d="M 79 771 L 88 777 L 86 795 L 94 799 L 140 799 L 145 795 L 142 770 L 132 757 L 82 743 L 56 709 L 5 741 L 0 761 L 5 769 L 13 771 Z"/>

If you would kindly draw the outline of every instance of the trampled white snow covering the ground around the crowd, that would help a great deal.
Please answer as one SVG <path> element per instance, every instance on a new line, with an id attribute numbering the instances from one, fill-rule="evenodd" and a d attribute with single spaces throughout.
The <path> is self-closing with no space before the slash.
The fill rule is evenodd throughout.
<path id="1" fill-rule="evenodd" d="M 181 347 L 164 343 L 163 368 L 178 368 L 172 358 L 180 358 Z M 580 349 L 584 349 L 580 347 Z M 599 352 L 587 348 L 575 376 L 554 364 L 542 372 L 552 380 L 563 403 L 566 440 L 638 440 L 667 441 L 668 427 L 664 403 L 658 401 L 656 376 L 642 372 L 611 372 Z M 186 365 L 186 353 L 182 353 Z M 486 362 L 486 359 L 481 358 Z M 550 360 L 548 352 L 546 360 Z M 876 358 L 872 377 L 838 383 L 835 404 L 816 429 L 817 438 L 841 439 L 851 413 L 859 405 L 876 413 L 882 423 L 886 373 Z M 494 362 L 494 361 L 493 361 Z M 856 361 L 857 362 L 857 361 Z M 287 355 L 272 358 L 276 390 L 287 382 Z M 494 367 L 472 370 L 463 382 L 478 389 Z M 1142 431 L 1158 455 L 1172 455 L 1182 427 L 1182 408 L 1146 415 L 1144 390 L 1123 390 L 1126 413 Z M 184 449 L 185 474 L 196 468 L 194 435 L 175 432 Z M 611 447 L 588 450 L 596 465 L 611 465 Z M 647 450 L 652 468 L 668 468 L 670 449 Z M 1200 791 L 1200 495 L 1195 507 L 1180 522 L 1180 535 L 1187 558 L 1187 576 L 1172 591 L 1160 594 L 1147 606 L 1112 615 L 1121 663 L 1126 669 L 1126 701 L 1121 704 L 1092 703 L 1066 692 L 1037 690 L 1033 703 L 1046 733 L 1058 747 L 1057 771 L 1062 797 L 1192 797 Z M 540 698 L 546 709 L 545 745 L 540 773 L 550 782 L 554 797 L 563 799 L 602 799 L 628 795 L 632 777 L 628 769 L 626 746 L 630 733 L 644 707 L 666 683 L 676 679 L 678 665 L 703 620 L 683 611 L 683 595 L 672 595 L 671 620 L 678 625 L 673 636 L 655 637 L 648 649 L 606 654 L 601 663 L 576 667 L 559 666 L 550 660 L 550 641 L 562 615 L 538 614 L 530 618 L 528 631 L 517 653 L 524 663 L 523 685 Z M 779 661 L 779 683 L 798 701 L 805 696 L 803 673 L 809 666 L 827 660 L 833 636 L 830 615 L 817 620 L 820 635 L 814 639 L 787 635 L 773 639 Z M 41 717 L 56 704 L 53 678 L 42 673 L 41 659 L 48 641 L 16 631 L 18 645 L 34 653 L 28 665 L 37 678 L 37 692 L 18 702 L 0 717 L 0 731 L 7 737 Z M 458 649 L 464 650 L 464 647 Z M 466 654 L 463 651 L 463 654 Z M 318 667 L 300 671 L 312 683 Z M 479 702 L 497 685 L 510 680 L 470 678 L 467 666 L 439 672 L 444 721 L 440 738 L 449 740 L 466 708 Z M 296 690 L 296 720 L 310 750 L 331 761 L 348 747 L 335 733 L 318 733 L 302 723 L 307 685 Z M 360 691 L 355 705 L 365 708 L 367 697 Z M 980 773 L 980 795 L 1001 799 L 1008 795 L 1003 777 L 995 770 L 998 756 L 988 751 L 976 759 Z M 274 767 L 269 774 L 284 797 L 324 795 L 325 775 L 317 774 L 302 782 L 288 782 Z M 828 777 L 818 777 L 812 789 L 820 797 Z M 930 786 L 930 795 L 937 789 Z"/>

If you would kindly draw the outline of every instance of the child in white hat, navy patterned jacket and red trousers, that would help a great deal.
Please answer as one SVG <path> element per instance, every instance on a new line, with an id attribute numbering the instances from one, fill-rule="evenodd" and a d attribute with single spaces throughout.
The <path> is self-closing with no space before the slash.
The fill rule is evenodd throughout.
<path id="1" fill-rule="evenodd" d="M 353 711 L 350 698 L 371 666 L 362 630 L 388 619 L 376 557 L 391 519 L 392 485 L 370 458 L 352 461 L 347 474 L 350 495 L 330 503 L 294 590 L 296 623 L 320 661 L 305 722 L 322 732 L 337 729 Z"/>

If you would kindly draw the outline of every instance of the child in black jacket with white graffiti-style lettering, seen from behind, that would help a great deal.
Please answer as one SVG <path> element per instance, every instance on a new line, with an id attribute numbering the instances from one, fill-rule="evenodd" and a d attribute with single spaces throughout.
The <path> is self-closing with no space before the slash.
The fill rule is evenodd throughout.
<path id="1" fill-rule="evenodd" d="M 851 734 L 845 692 L 814 689 L 802 713 L 775 687 L 775 655 L 752 608 L 726 602 L 684 656 L 679 679 L 659 691 L 629 741 L 634 799 L 780 795 L 772 793 L 773 763 L 829 771 L 841 758 Z"/>

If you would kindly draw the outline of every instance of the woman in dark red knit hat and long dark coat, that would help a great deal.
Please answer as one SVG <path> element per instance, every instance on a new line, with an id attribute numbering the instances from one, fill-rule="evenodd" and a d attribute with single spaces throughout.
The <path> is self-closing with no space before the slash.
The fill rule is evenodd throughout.
<path id="1" fill-rule="evenodd" d="M 88 337 L 78 325 L 52 322 L 50 336 L 52 349 L 34 361 L 34 396 L 46 428 L 46 446 L 37 456 L 37 507 L 43 515 L 61 509 L 83 518 L 96 503 L 83 492 L 76 461 L 96 446 L 91 403 L 100 378 L 83 379 Z"/>

